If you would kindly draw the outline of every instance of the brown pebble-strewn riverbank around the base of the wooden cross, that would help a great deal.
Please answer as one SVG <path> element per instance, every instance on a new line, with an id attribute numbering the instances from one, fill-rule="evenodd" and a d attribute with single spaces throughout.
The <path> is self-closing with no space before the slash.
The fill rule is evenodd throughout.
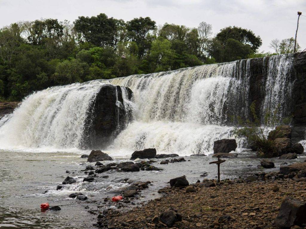
<path id="1" fill-rule="evenodd" d="M 212 187 L 197 183 L 196 192 L 175 189 L 126 212 L 104 212 L 98 216 L 98 224 L 101 228 L 165 228 L 158 217 L 173 208 L 182 220 L 172 228 L 276 228 L 282 201 L 288 196 L 302 201 L 306 197 L 304 179 L 239 182 L 221 182 Z"/>

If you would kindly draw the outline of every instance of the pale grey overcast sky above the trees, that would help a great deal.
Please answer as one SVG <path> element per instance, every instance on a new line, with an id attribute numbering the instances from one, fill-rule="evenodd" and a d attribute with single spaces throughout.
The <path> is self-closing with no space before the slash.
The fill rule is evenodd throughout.
<path id="1" fill-rule="evenodd" d="M 272 51 L 272 39 L 295 36 L 297 11 L 306 16 L 306 0 L 0 0 L 0 27 L 16 21 L 57 18 L 74 21 L 78 16 L 106 13 L 131 20 L 151 17 L 157 24 L 197 27 L 201 21 L 214 33 L 226 26 L 248 28 L 263 40 L 261 51 Z M 300 17 L 297 41 L 306 48 L 306 17 Z"/>

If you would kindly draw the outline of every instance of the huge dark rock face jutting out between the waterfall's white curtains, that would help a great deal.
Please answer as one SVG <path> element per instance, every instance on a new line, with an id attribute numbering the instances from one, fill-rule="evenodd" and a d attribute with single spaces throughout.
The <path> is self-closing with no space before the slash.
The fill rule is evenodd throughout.
<path id="1" fill-rule="evenodd" d="M 132 120 L 132 109 L 123 99 L 132 101 L 128 87 L 104 84 L 88 107 L 83 148 L 105 148 Z"/>

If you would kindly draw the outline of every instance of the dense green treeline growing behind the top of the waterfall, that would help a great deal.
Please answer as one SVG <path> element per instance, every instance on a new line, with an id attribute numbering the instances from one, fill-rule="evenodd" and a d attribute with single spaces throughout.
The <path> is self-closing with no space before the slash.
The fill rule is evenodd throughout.
<path id="1" fill-rule="evenodd" d="M 0 99 L 21 100 L 54 85 L 175 70 L 263 55 L 261 38 L 240 27 L 118 20 L 101 13 L 73 23 L 45 19 L 0 30 Z"/>

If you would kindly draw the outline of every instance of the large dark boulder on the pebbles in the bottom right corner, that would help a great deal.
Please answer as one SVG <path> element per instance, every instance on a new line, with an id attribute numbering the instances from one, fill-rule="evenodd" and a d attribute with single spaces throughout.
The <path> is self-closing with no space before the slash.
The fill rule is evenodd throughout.
<path id="1" fill-rule="evenodd" d="M 306 223 L 306 203 L 293 197 L 286 197 L 282 202 L 275 225 L 281 228 Z"/>

